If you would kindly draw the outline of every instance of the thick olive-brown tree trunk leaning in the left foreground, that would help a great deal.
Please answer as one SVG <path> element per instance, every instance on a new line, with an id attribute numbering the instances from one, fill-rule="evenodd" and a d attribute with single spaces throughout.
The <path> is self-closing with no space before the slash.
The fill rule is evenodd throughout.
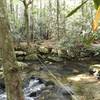
<path id="1" fill-rule="evenodd" d="M 10 34 L 5 0 L 0 0 L 0 34 L 7 100 L 24 100 L 21 77 L 16 64 L 12 37 Z"/>

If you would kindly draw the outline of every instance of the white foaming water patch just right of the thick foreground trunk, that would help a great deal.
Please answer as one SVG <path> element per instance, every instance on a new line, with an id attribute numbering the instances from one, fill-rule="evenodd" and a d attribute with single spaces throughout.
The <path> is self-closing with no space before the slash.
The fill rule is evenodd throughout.
<path id="1" fill-rule="evenodd" d="M 45 84 L 40 78 L 30 77 L 25 82 L 24 87 L 24 94 L 36 99 L 40 97 L 42 90 L 45 88 Z"/>

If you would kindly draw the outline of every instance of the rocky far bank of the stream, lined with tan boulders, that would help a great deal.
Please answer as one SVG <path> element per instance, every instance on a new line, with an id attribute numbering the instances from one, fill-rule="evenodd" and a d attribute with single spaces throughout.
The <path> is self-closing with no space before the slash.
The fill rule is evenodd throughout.
<path id="1" fill-rule="evenodd" d="M 100 52 L 95 47 L 77 47 L 64 49 L 56 46 L 55 42 L 31 44 L 27 47 L 26 43 L 20 43 L 15 47 L 15 54 L 18 60 L 34 60 L 38 57 L 50 62 L 63 62 L 65 60 L 84 60 L 96 58 L 99 60 Z M 97 51 L 96 51 L 97 50 Z"/>

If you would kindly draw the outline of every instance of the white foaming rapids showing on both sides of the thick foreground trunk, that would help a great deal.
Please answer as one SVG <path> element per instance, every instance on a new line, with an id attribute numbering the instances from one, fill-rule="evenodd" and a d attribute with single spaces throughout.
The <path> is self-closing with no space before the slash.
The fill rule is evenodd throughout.
<path id="1" fill-rule="evenodd" d="M 34 100 L 38 98 L 44 88 L 45 84 L 40 78 L 31 77 L 25 80 L 25 84 L 23 86 L 25 100 Z M 3 79 L 0 80 L 0 100 L 7 100 Z"/>

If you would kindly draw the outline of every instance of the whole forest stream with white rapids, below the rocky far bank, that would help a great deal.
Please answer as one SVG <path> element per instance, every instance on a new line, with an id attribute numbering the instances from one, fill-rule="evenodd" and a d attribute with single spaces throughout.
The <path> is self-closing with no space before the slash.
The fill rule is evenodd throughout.
<path id="1" fill-rule="evenodd" d="M 99 64 L 99 61 L 50 63 L 46 64 L 47 69 L 39 62 L 23 63 L 28 65 L 21 72 L 25 100 L 100 100 L 100 82 L 88 72 L 89 66 Z M 6 100 L 3 80 L 0 80 L 0 100 Z"/>

